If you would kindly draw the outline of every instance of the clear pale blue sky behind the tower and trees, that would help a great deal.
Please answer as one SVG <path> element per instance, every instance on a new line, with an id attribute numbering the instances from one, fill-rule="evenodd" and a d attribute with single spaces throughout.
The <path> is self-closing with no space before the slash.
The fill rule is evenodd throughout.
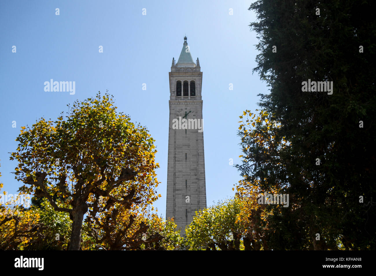
<path id="1" fill-rule="evenodd" d="M 187 36 L 202 80 L 207 204 L 234 195 L 241 179 L 229 165 L 240 163 L 239 117 L 255 110 L 267 93 L 256 66 L 252 1 L 2 1 L 0 82 L 2 130 L 0 182 L 15 193 L 22 183 L 11 173 L 9 153 L 20 127 L 36 118 L 55 120 L 67 104 L 99 90 L 114 95 L 117 111 L 140 122 L 156 140 L 158 193 L 165 216 L 168 146 L 168 72 Z M 60 15 L 55 15 L 59 8 Z M 146 15 L 142 9 L 146 8 Z M 233 9 L 233 15 L 229 15 Z M 16 53 L 12 53 L 12 46 Z M 99 53 L 99 46 L 103 53 Z M 45 92 L 44 81 L 75 81 L 76 92 Z M 146 83 L 147 90 L 142 90 Z M 233 83 L 233 90 L 229 90 Z M 16 121 L 16 128 L 12 128 Z"/>

